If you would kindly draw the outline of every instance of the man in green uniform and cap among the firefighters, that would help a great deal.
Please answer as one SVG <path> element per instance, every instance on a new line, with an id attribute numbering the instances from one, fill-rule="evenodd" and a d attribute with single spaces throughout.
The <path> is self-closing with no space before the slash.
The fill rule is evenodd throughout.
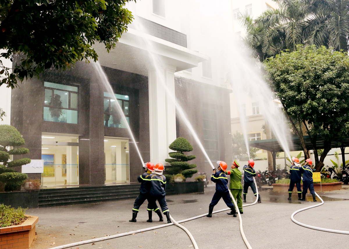
<path id="1" fill-rule="evenodd" d="M 240 165 L 238 162 L 235 160 L 231 164 L 231 170 L 228 172 L 225 172 L 225 174 L 230 175 L 230 184 L 229 184 L 229 189 L 233 197 L 236 199 L 236 204 L 238 205 L 238 209 L 240 214 L 243 214 L 242 210 L 242 184 L 241 184 L 241 178 L 242 178 L 242 173 L 239 171 L 238 167 Z M 233 201 L 233 200 L 231 200 Z M 233 214 L 232 212 L 227 213 L 227 214 Z"/>

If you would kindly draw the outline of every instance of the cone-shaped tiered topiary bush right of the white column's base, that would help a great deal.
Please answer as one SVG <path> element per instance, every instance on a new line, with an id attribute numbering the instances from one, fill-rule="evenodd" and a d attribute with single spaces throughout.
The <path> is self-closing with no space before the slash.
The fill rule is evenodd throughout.
<path id="1" fill-rule="evenodd" d="M 195 156 L 186 156 L 183 152 L 193 150 L 193 146 L 184 137 L 178 137 L 169 148 L 177 152 L 170 152 L 169 156 L 173 159 L 165 159 L 170 166 L 166 167 L 166 173 L 170 175 L 182 174 L 185 178 L 191 178 L 193 174 L 198 173 L 196 164 L 189 164 L 187 161 L 195 159 Z"/>

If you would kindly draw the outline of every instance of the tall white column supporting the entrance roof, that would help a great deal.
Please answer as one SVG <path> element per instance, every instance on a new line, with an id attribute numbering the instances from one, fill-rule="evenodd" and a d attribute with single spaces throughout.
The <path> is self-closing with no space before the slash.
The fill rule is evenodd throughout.
<path id="1" fill-rule="evenodd" d="M 149 71 L 150 161 L 165 163 L 168 146 L 176 139 L 176 107 L 166 96 L 166 85 L 174 96 L 174 69 L 163 68 L 163 75 Z M 163 82 L 161 82 L 163 81 Z"/>

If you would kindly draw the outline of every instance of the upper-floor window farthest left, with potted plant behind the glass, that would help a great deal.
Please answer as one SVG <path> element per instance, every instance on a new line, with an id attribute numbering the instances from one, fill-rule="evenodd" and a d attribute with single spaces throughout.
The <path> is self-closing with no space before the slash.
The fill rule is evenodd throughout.
<path id="1" fill-rule="evenodd" d="M 44 121 L 77 124 L 77 86 L 44 82 Z"/>

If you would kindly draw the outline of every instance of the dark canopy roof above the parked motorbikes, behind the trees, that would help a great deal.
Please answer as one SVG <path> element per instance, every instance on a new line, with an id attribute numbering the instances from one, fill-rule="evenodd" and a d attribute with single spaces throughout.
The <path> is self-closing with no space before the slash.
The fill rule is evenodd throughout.
<path id="1" fill-rule="evenodd" d="M 305 145 L 308 150 L 312 150 L 313 146 L 310 142 L 310 137 L 309 136 L 303 136 Z M 299 138 L 296 137 L 291 137 L 290 139 L 290 150 L 291 151 L 300 151 L 303 150 L 302 146 L 300 145 L 300 140 Z M 263 139 L 263 140 L 253 140 L 248 142 L 251 147 L 271 151 L 271 152 L 283 152 L 283 148 L 277 141 L 277 139 Z M 340 144 L 344 144 L 344 146 L 349 147 L 349 137 L 344 138 L 344 139 L 333 139 L 331 143 L 332 148 L 337 148 L 340 146 Z M 321 137 L 317 138 L 316 141 L 316 146 L 318 149 L 324 149 L 324 139 Z"/>

